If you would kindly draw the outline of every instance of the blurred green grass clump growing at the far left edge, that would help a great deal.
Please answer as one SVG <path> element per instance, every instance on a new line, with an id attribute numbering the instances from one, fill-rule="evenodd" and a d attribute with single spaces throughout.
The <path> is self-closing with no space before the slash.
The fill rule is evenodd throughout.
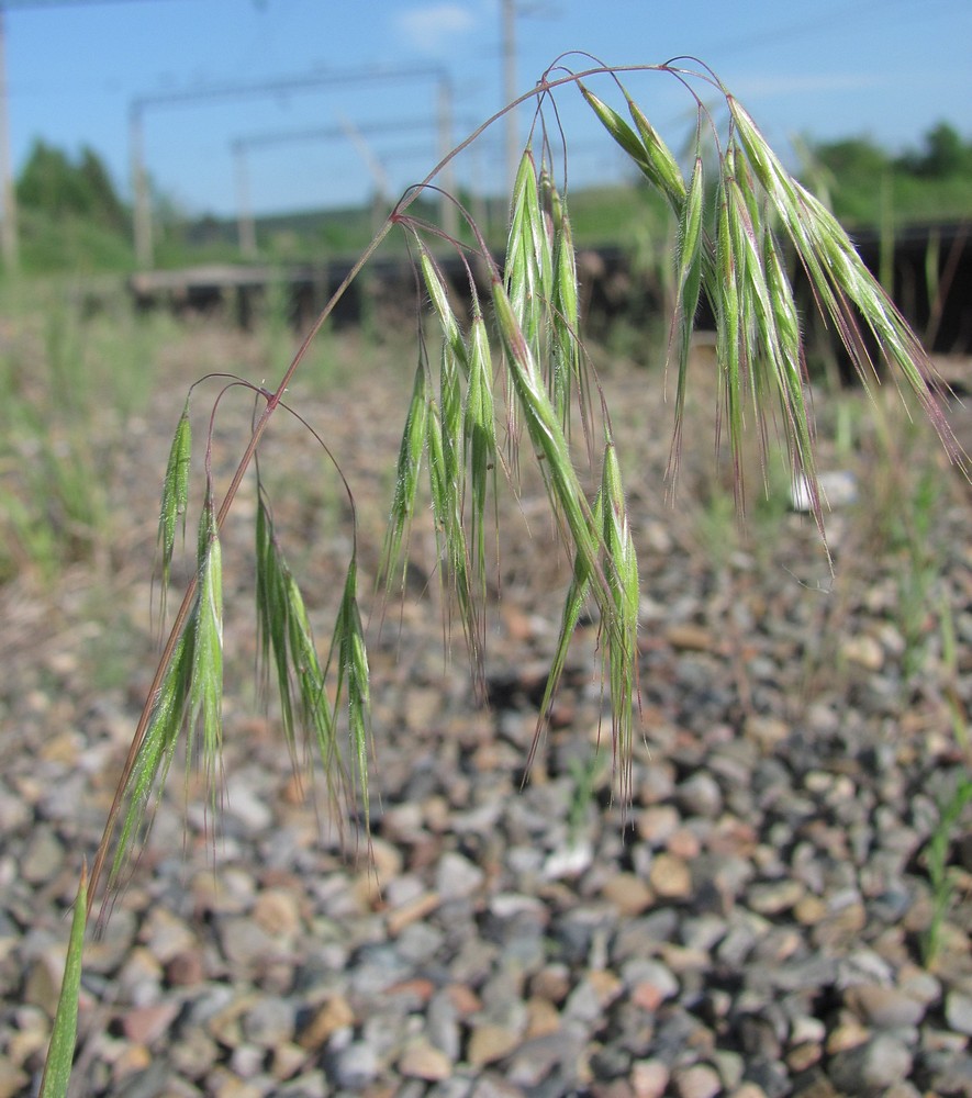
<path id="1" fill-rule="evenodd" d="M 0 344 L 0 582 L 49 584 L 110 545 L 109 493 L 126 424 L 146 405 L 171 333 L 133 317 L 119 287 L 87 314 L 71 281 L 11 288 Z"/>

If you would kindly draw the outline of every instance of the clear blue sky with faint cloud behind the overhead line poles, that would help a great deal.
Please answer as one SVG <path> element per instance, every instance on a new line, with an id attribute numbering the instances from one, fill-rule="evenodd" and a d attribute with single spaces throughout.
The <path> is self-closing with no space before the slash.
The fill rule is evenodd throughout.
<path id="1" fill-rule="evenodd" d="M 368 157 L 394 192 L 434 163 L 429 120 L 446 82 L 457 139 L 502 100 L 500 0 L 2 7 L 14 168 L 35 138 L 72 154 L 87 144 L 127 197 L 129 119 L 142 101 L 147 168 L 192 213 L 236 210 L 234 142 L 247 149 L 258 212 L 356 202 L 376 188 Z M 517 9 L 521 90 L 565 51 L 611 64 L 691 54 L 715 69 L 781 150 L 798 134 L 867 134 L 901 148 L 917 145 L 941 119 L 972 135 L 969 0 L 517 0 Z M 389 75 L 402 68 L 411 75 Z M 362 70 L 386 76 L 342 79 Z M 320 82 L 232 99 L 163 98 L 303 78 Z M 632 90 L 670 139 L 688 132 L 691 101 L 670 76 L 640 77 Z M 616 176 L 618 157 L 577 93 L 559 103 L 574 182 Z M 320 131 L 331 136 L 301 136 Z M 258 144 L 270 134 L 279 143 Z M 458 170 L 461 181 L 501 182 L 499 128 Z"/>

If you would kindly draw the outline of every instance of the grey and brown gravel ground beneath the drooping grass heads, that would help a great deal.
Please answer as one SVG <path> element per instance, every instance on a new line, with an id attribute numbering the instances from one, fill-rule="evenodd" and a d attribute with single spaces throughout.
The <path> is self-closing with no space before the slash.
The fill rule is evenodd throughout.
<path id="1" fill-rule="evenodd" d="M 225 333 L 193 339 L 171 351 L 179 378 L 190 360 L 195 373 L 257 354 Z M 373 544 L 410 379 L 362 372 L 376 354 L 354 344 L 335 354 L 348 392 L 301 407 Z M 693 457 L 710 458 L 702 415 L 667 507 L 658 379 L 615 363 L 605 388 L 645 592 L 630 805 L 611 793 L 593 626 L 523 785 L 567 575 L 527 477 L 519 508 L 504 505 L 489 706 L 458 641 L 444 659 L 425 530 L 409 592 L 372 629 L 369 856 L 357 814 L 328 822 L 323 788 L 315 807 L 250 698 L 242 500 L 223 811 L 214 825 L 197 778 L 174 775 L 88 948 L 76 1095 L 972 1095 L 969 806 L 946 844 L 937 955 L 923 952 L 926 847 L 969 772 L 953 721 L 972 707 L 969 495 L 925 435 L 894 421 L 882 444 L 861 427 L 841 468 L 863 503 L 831 515 L 831 579 L 813 523 L 779 502 L 753 501 L 737 535 L 718 473 Z M 26 578 L 0 591 L 0 1098 L 36 1086 L 66 911 L 152 670 L 145 494 L 181 397 L 159 401 L 158 427 L 125 426 L 115 550 L 46 596 Z M 268 447 L 268 477 L 326 635 L 346 515 L 297 438 Z M 825 468 L 836 452 L 825 444 Z"/>

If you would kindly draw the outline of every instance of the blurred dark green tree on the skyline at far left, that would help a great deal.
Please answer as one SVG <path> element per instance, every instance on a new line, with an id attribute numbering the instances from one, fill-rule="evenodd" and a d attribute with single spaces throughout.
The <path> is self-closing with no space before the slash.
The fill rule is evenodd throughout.
<path id="1" fill-rule="evenodd" d="M 54 219 L 74 214 L 107 228 L 125 226 L 125 209 L 108 169 L 88 146 L 74 163 L 62 149 L 35 141 L 16 181 L 16 197 L 23 208 Z"/>

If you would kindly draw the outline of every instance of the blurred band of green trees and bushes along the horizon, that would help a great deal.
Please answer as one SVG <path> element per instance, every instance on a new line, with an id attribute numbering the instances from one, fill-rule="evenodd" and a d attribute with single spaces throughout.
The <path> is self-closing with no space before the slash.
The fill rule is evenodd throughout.
<path id="1" fill-rule="evenodd" d="M 916 148 L 901 154 L 865 136 L 806 139 L 801 147 L 804 182 L 826 194 L 834 212 L 851 228 L 961 220 L 972 212 L 972 139 L 946 123 L 929 130 Z M 630 245 L 634 227 L 645 224 L 646 208 L 652 203 L 661 220 L 663 208 L 647 188 L 633 184 L 607 190 L 610 201 L 605 201 L 605 188 L 572 195 L 577 244 Z M 134 270 L 131 211 L 93 149 L 85 147 L 71 157 L 38 141 L 16 181 L 16 195 L 26 272 Z M 459 198 L 472 205 L 470 195 Z M 420 202 L 416 212 L 435 216 L 429 203 Z M 492 200 L 481 219 L 498 247 L 503 243 L 506 214 L 505 200 Z M 265 216 L 257 222 L 260 255 L 271 262 L 355 255 L 371 238 L 375 222 L 376 212 L 367 204 Z M 189 217 L 157 195 L 155 227 L 160 267 L 239 261 L 233 219 Z M 644 240 L 636 236 L 635 244 Z"/>

